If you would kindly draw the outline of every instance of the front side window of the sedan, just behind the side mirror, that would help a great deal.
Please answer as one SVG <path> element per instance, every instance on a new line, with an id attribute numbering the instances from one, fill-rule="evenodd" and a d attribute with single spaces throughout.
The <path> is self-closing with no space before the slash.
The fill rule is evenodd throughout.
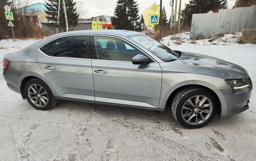
<path id="1" fill-rule="evenodd" d="M 96 58 L 103 60 L 131 62 L 131 58 L 143 54 L 129 43 L 107 36 L 94 36 L 94 46 Z"/>

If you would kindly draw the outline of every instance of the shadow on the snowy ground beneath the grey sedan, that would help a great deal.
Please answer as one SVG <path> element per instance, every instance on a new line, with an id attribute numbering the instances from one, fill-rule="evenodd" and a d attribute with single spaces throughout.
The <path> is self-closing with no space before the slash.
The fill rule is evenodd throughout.
<path id="1" fill-rule="evenodd" d="M 85 102 L 72 102 L 72 101 L 61 101 L 51 111 L 66 111 L 67 116 L 71 116 L 72 113 L 92 114 L 96 113 L 95 117 L 106 117 L 106 118 L 120 118 L 125 121 L 130 121 L 136 125 L 149 125 L 149 126 L 163 126 L 170 125 L 173 127 L 183 128 L 179 123 L 175 121 L 172 116 L 171 109 L 167 108 L 166 111 L 154 111 L 149 109 L 129 108 L 121 107 L 118 105 L 103 105 L 98 103 L 85 103 Z M 234 127 L 241 126 L 243 124 L 244 113 L 237 114 L 232 117 L 221 117 L 216 114 L 216 117 L 205 126 L 210 128 L 215 127 Z M 204 127 L 203 127 L 204 128 Z"/>

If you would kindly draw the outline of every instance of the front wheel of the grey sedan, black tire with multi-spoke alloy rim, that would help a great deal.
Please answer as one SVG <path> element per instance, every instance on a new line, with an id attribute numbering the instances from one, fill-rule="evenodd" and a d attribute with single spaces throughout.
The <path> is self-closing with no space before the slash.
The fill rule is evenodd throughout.
<path id="1" fill-rule="evenodd" d="M 185 88 L 172 101 L 172 115 L 186 128 L 200 128 L 212 121 L 217 112 L 216 97 L 199 86 Z"/>

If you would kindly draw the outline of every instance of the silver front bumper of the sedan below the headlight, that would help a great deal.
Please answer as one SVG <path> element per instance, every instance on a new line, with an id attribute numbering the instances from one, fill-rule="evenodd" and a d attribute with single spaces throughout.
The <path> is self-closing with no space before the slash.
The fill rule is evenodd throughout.
<path id="1" fill-rule="evenodd" d="M 249 109 L 249 99 L 252 90 L 242 94 L 234 94 L 232 90 L 217 90 L 216 91 L 221 102 L 221 117 L 232 116 Z"/>

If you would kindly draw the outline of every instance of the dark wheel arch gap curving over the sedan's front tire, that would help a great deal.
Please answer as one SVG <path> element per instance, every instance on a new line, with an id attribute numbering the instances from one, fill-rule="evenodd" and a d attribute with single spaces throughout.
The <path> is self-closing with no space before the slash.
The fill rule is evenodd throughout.
<path id="1" fill-rule="evenodd" d="M 164 110 L 166 110 L 168 107 L 170 107 L 174 97 L 176 96 L 177 93 L 179 93 L 179 91 L 181 91 L 182 89 L 187 88 L 189 86 L 198 86 L 198 87 L 201 87 L 201 88 L 204 88 L 204 89 L 207 89 L 207 90 L 211 91 L 211 93 L 215 96 L 216 101 L 217 101 L 217 107 L 218 107 L 217 114 L 218 114 L 218 116 L 221 116 L 221 101 L 220 101 L 220 98 L 218 97 L 218 95 L 211 88 L 209 88 L 207 86 L 204 86 L 204 85 L 199 85 L 199 84 L 182 85 L 182 86 L 179 86 L 178 88 L 176 88 L 175 90 L 173 90 L 171 92 L 171 94 L 168 96 L 168 99 L 166 100 Z"/>

